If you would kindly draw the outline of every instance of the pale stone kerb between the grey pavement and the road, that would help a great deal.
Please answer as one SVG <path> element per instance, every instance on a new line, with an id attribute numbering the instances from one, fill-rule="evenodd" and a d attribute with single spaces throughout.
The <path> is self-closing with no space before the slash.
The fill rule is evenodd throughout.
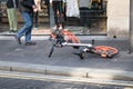
<path id="1" fill-rule="evenodd" d="M 109 69 L 102 70 L 93 68 L 59 67 L 10 61 L 0 61 L 0 70 L 41 73 L 51 76 L 133 81 L 133 71 L 124 70 L 109 70 Z"/>

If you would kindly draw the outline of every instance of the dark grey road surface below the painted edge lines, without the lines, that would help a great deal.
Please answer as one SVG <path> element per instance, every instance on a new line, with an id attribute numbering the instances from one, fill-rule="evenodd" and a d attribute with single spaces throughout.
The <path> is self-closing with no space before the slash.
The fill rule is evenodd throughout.
<path id="1" fill-rule="evenodd" d="M 0 78 L 0 89 L 125 89 L 123 86 Z"/>

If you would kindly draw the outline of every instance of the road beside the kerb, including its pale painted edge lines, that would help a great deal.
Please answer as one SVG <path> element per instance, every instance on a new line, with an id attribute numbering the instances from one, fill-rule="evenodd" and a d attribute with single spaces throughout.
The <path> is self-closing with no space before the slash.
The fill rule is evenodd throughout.
<path id="1" fill-rule="evenodd" d="M 100 81 L 104 82 L 102 79 L 0 71 L 0 89 L 133 89 L 130 81 Z"/>

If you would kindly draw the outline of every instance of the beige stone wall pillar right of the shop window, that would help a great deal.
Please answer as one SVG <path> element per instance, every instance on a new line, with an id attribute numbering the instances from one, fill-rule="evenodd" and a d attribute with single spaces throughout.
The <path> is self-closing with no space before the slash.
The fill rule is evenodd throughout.
<path id="1" fill-rule="evenodd" d="M 130 0 L 108 0 L 109 37 L 129 37 L 130 31 Z"/>

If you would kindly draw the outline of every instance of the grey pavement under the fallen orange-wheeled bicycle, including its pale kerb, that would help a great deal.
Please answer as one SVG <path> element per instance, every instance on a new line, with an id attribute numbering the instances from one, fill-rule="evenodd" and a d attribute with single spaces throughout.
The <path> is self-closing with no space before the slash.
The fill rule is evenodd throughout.
<path id="1" fill-rule="evenodd" d="M 79 36 L 82 42 L 95 46 L 112 46 L 119 55 L 112 59 L 86 53 L 84 60 L 74 55 L 78 49 L 71 47 L 57 48 L 51 58 L 51 43 L 48 36 L 33 36 L 37 46 L 19 46 L 12 36 L 0 36 L 0 70 L 35 72 L 54 76 L 98 78 L 111 80 L 133 80 L 133 55 L 127 53 L 127 39 L 113 39 L 105 36 Z M 22 38 L 23 40 L 24 38 Z"/>

